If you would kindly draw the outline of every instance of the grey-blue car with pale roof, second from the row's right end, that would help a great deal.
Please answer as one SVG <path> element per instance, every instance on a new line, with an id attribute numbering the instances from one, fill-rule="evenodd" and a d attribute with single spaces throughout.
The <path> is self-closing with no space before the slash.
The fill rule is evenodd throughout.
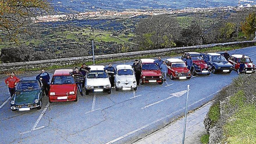
<path id="1" fill-rule="evenodd" d="M 212 73 L 227 72 L 230 73 L 233 70 L 233 65 L 229 63 L 224 56 L 217 53 L 208 53 L 210 55 L 209 65 L 212 67 Z"/>

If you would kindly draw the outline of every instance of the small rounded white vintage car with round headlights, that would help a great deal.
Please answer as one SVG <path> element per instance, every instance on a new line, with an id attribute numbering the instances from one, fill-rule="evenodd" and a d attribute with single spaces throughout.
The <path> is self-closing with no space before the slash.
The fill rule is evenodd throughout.
<path id="1" fill-rule="evenodd" d="M 115 75 L 115 90 L 137 90 L 136 78 L 131 65 L 117 65 Z"/>

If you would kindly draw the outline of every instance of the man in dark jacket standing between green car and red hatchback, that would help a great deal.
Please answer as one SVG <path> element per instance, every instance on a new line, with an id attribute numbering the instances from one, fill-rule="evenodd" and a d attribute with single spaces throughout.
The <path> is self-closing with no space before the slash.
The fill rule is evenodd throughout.
<path id="1" fill-rule="evenodd" d="M 38 81 L 41 80 L 43 84 L 43 88 L 45 90 L 45 95 L 48 96 L 49 90 L 50 90 L 50 75 L 45 72 L 44 69 L 41 70 L 41 73 L 38 74 L 35 79 Z"/>

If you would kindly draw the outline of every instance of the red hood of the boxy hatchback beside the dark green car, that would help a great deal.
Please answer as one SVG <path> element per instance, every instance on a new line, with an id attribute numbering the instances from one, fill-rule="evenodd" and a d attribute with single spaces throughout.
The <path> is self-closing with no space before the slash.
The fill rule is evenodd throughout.
<path id="1" fill-rule="evenodd" d="M 50 92 L 54 92 L 54 93 L 69 93 L 75 91 L 76 88 L 76 84 L 52 84 L 50 86 Z"/>

